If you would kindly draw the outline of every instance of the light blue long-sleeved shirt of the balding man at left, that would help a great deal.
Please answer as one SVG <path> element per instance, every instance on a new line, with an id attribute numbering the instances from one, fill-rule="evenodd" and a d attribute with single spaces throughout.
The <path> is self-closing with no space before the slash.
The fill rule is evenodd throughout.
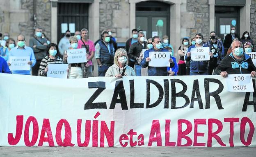
<path id="1" fill-rule="evenodd" d="M 24 49 L 20 49 L 18 46 L 11 49 L 9 52 L 10 56 L 30 56 L 30 61 L 32 61 L 32 67 L 36 64 L 37 60 L 34 57 L 34 52 L 31 47 L 24 46 Z M 9 58 L 8 58 L 9 62 Z M 12 71 L 13 74 L 24 74 L 24 75 L 30 75 L 30 70 L 14 70 Z"/>

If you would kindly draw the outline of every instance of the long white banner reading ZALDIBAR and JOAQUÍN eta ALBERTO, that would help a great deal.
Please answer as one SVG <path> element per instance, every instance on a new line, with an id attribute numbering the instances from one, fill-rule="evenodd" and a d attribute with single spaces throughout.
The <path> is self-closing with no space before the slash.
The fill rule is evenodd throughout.
<path id="1" fill-rule="evenodd" d="M 256 94 L 221 76 L 0 82 L 0 146 L 256 146 Z"/>

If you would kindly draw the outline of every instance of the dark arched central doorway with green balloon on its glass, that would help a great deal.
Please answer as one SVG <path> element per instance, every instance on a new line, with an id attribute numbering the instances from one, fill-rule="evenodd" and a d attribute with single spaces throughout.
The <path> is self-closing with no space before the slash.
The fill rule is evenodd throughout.
<path id="1" fill-rule="evenodd" d="M 136 4 L 136 29 L 144 31 L 145 38 L 170 35 L 170 5 L 159 1 Z"/>

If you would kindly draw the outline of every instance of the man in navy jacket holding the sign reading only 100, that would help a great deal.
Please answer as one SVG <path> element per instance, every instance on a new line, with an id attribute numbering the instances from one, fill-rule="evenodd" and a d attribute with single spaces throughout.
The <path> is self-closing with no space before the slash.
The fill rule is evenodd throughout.
<path id="1" fill-rule="evenodd" d="M 142 59 L 140 65 L 144 68 L 148 67 L 149 76 L 167 76 L 168 72 L 166 67 L 149 67 L 149 61 L 151 61 L 151 59 L 149 58 L 149 52 L 168 52 L 167 49 L 162 48 L 161 38 L 159 36 L 154 36 L 152 38 L 152 45 L 153 48 L 148 49 L 144 52 L 144 58 Z M 171 55 L 169 62 L 170 67 L 174 67 L 174 62 L 171 58 Z"/>

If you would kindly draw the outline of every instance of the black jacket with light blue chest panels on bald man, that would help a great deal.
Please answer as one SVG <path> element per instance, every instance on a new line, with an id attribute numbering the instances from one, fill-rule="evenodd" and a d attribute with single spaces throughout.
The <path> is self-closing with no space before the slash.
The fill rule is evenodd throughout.
<path id="1" fill-rule="evenodd" d="M 256 70 L 251 57 L 245 54 L 242 61 L 237 61 L 233 54 L 225 56 L 219 66 L 216 67 L 214 74 L 220 75 L 221 72 L 227 72 L 228 74 L 250 74 L 252 71 Z"/>

